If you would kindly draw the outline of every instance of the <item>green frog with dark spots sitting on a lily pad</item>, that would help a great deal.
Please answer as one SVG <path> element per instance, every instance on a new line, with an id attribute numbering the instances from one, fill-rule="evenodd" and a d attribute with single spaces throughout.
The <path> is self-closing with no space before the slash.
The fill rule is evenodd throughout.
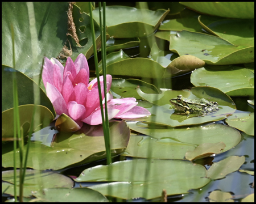
<path id="1" fill-rule="evenodd" d="M 187 99 L 182 95 L 170 100 L 170 103 L 175 106 L 178 111 L 184 111 L 187 116 L 191 113 L 197 113 L 198 116 L 207 116 L 207 114 L 218 111 L 218 103 L 208 101 L 206 99 Z"/>

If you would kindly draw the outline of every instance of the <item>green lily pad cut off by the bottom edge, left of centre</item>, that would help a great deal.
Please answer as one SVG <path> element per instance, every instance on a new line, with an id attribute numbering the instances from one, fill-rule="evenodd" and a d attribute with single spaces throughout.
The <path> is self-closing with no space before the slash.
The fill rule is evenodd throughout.
<path id="1" fill-rule="evenodd" d="M 89 188 L 44 188 L 33 196 L 47 202 L 109 202 L 101 193 Z"/>

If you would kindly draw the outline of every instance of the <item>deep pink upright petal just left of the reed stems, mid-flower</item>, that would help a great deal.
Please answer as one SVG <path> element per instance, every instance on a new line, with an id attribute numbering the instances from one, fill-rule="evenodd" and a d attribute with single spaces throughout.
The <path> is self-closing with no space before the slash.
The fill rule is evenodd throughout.
<path id="1" fill-rule="evenodd" d="M 103 99 L 103 82 L 101 82 L 101 95 Z M 84 103 L 84 106 L 86 108 L 86 114 L 85 117 L 88 117 L 93 111 L 95 111 L 96 108 L 100 106 L 100 97 L 98 95 L 98 86 L 94 87 L 92 90 L 89 91 L 87 95 L 87 99 Z"/>

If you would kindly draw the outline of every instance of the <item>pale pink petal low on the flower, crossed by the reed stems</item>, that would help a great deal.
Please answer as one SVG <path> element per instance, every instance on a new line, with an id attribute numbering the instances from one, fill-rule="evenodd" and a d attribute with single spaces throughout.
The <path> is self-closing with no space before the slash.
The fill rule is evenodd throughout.
<path id="1" fill-rule="evenodd" d="M 108 118 L 109 120 L 114 118 L 118 114 L 119 110 L 118 109 L 108 109 Z M 94 113 L 90 114 L 89 117 L 85 118 L 82 120 L 82 122 L 85 122 L 86 124 L 89 125 L 99 125 L 102 124 L 102 118 L 101 118 L 101 109 L 97 109 Z"/>

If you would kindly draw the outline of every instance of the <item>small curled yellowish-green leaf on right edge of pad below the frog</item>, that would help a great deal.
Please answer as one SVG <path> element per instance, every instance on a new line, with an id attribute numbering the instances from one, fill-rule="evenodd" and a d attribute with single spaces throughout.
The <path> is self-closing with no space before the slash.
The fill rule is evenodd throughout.
<path id="1" fill-rule="evenodd" d="M 219 154 L 225 147 L 224 142 L 203 143 L 196 147 L 194 151 L 187 151 L 185 157 L 190 161 L 201 159 L 213 154 Z"/>

